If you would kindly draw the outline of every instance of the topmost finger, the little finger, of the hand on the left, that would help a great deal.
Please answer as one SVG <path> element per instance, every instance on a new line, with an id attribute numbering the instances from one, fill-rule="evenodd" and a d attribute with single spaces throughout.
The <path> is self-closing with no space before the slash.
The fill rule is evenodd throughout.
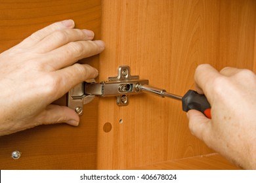
<path id="1" fill-rule="evenodd" d="M 30 37 L 27 39 L 24 39 L 20 43 L 22 46 L 33 46 L 34 44 L 37 44 L 37 42 L 41 41 L 54 31 L 60 31 L 63 29 L 72 29 L 75 26 L 74 20 L 64 20 L 62 22 L 56 22 L 54 24 L 51 24 L 47 27 L 44 27 L 43 29 L 40 29 L 39 31 L 36 31 Z"/>

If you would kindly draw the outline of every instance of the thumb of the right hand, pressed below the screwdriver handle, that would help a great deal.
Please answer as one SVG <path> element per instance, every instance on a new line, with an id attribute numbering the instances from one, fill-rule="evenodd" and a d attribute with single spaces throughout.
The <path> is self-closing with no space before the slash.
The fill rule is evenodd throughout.
<path id="1" fill-rule="evenodd" d="M 198 110 L 188 110 L 189 129 L 192 135 L 204 142 L 209 142 L 211 138 L 211 120 Z"/>

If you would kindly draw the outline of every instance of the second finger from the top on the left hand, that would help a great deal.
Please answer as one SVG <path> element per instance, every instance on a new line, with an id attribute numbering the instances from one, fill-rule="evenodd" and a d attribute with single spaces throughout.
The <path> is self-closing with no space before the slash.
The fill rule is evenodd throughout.
<path id="1" fill-rule="evenodd" d="M 92 40 L 94 35 L 93 31 L 86 29 L 63 29 L 60 31 L 54 31 L 38 42 L 35 47 L 39 53 L 45 53 L 63 46 L 68 42 Z"/>

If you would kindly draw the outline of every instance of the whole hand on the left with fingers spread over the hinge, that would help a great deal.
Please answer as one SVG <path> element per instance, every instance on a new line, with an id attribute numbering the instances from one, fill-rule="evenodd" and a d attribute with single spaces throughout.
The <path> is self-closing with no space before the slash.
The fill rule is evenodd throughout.
<path id="1" fill-rule="evenodd" d="M 91 41 L 93 31 L 74 25 L 56 22 L 0 54 L 0 135 L 41 124 L 79 124 L 74 110 L 51 103 L 98 75 L 75 62 L 102 52 L 104 42 Z"/>

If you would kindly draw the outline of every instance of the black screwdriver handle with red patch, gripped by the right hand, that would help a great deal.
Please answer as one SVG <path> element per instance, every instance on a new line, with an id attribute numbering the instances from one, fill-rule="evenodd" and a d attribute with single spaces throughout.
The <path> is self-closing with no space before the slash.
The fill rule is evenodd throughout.
<path id="1" fill-rule="evenodd" d="M 188 112 L 190 109 L 199 110 L 207 118 L 211 119 L 211 105 L 207 98 L 194 90 L 188 90 L 182 97 L 182 110 Z"/>

